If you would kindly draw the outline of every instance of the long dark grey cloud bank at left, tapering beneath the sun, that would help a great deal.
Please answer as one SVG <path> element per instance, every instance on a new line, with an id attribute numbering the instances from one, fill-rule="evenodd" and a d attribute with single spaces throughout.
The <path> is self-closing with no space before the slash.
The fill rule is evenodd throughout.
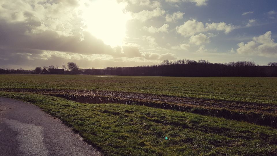
<path id="1" fill-rule="evenodd" d="M 57 31 L 45 30 L 33 33 L 35 27 L 25 23 L 0 22 L 0 45 L 23 49 L 48 51 L 68 51 L 75 53 L 111 53 L 113 49 L 86 31 L 75 32 L 70 36 Z"/>

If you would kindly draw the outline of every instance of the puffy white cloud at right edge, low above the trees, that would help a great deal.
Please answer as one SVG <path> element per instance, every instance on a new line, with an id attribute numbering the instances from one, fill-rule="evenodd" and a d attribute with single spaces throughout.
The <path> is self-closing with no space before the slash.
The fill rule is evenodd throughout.
<path id="1" fill-rule="evenodd" d="M 237 49 L 239 54 L 277 57 L 277 43 L 271 38 L 271 31 L 267 31 L 259 37 L 254 37 L 252 41 L 246 44 L 240 42 L 237 45 L 239 46 Z"/>

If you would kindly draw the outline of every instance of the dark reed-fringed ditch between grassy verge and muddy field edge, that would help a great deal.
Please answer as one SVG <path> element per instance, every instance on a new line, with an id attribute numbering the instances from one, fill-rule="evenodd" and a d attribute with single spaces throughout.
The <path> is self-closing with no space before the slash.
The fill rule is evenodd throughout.
<path id="1" fill-rule="evenodd" d="M 68 100 L 80 102 L 80 103 L 120 103 L 126 105 L 143 105 L 147 107 L 161 108 L 161 109 L 171 109 L 181 112 L 190 112 L 199 115 L 212 116 L 218 118 L 225 118 L 229 120 L 245 121 L 257 125 L 270 126 L 277 128 L 277 116 L 267 113 L 256 113 L 256 112 L 242 112 L 242 111 L 232 111 L 229 109 L 216 109 L 209 107 L 197 107 L 195 105 L 185 105 L 168 103 L 162 101 L 148 101 L 140 99 L 127 99 L 115 96 L 101 96 L 98 94 L 49 94 L 51 96 L 57 96 L 65 98 Z"/>

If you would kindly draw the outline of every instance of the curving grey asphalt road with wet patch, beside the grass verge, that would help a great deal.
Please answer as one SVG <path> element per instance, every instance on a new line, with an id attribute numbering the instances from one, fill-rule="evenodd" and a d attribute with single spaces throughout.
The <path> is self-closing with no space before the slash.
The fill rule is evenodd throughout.
<path id="1" fill-rule="evenodd" d="M 0 155 L 101 155 L 37 106 L 0 97 Z"/>

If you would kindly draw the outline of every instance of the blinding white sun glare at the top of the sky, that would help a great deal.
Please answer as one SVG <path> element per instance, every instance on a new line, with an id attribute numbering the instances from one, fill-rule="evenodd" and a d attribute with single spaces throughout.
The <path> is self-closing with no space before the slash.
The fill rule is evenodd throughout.
<path id="1" fill-rule="evenodd" d="M 116 0 L 93 0 L 82 7 L 86 30 L 111 47 L 123 45 L 130 14 L 123 12 L 125 3 Z"/>

